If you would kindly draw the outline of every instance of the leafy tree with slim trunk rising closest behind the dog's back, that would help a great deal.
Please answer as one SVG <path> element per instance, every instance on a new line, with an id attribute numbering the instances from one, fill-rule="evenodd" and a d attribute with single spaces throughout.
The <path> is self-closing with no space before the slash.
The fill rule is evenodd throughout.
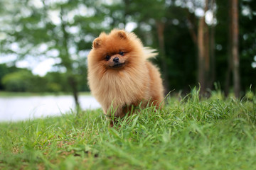
<path id="1" fill-rule="evenodd" d="M 132 18 L 138 23 L 138 27 L 134 30 L 140 38 L 143 37 L 142 33 L 145 36 L 145 30 L 142 26 L 151 27 L 149 30 L 152 35 L 156 35 L 154 39 L 155 42 L 158 42 L 157 49 L 159 51 L 160 67 L 162 71 L 162 77 L 164 79 L 164 88 L 165 93 L 168 94 L 171 87 L 169 86 L 169 68 L 168 68 L 168 57 L 166 57 L 166 45 L 165 45 L 165 27 L 166 27 L 166 11 L 167 7 L 165 4 L 166 1 L 131 1 L 126 0 L 126 16 L 124 18 Z M 129 6 L 127 6 L 129 4 Z M 143 8 L 142 8 L 143 6 Z M 150 11 L 150 12 L 149 12 Z M 139 15 L 134 15 L 134 13 L 139 13 Z M 151 23 L 151 24 L 150 24 Z M 148 38 L 148 37 L 147 37 Z"/>

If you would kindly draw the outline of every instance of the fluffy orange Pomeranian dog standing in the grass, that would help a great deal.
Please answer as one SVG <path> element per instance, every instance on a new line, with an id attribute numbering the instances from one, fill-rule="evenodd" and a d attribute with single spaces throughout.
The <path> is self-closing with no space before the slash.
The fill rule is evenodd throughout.
<path id="1" fill-rule="evenodd" d="M 137 35 L 125 30 L 114 29 L 95 38 L 87 58 L 88 82 L 107 116 L 122 118 L 138 106 L 159 108 L 164 100 L 162 79 L 147 61 L 156 55 L 143 47 Z"/>

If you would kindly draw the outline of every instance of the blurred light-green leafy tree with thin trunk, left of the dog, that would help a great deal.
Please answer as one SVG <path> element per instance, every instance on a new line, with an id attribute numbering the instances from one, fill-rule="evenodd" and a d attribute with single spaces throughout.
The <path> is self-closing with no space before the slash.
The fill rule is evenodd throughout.
<path id="1" fill-rule="evenodd" d="M 86 4 L 80 1 L 18 1 L 19 8 L 14 7 L 12 13 L 13 26 L 4 30 L 8 38 L 3 40 L 2 53 L 14 54 L 18 60 L 26 57 L 58 59 L 60 62 L 55 67 L 65 70 L 66 82 L 79 107 L 78 84 L 86 82 L 85 53 L 96 36 L 93 35 L 96 31 L 87 31 L 94 30 L 90 25 L 92 21 L 102 23 L 104 20 L 100 18 L 102 15 L 98 17 L 94 13 L 92 6 L 96 3 L 98 1 L 87 1 Z M 26 13 L 21 11 L 24 9 Z M 80 13 L 82 11 L 91 13 Z M 97 34 L 100 32 L 100 28 L 95 30 Z M 16 49 L 11 48 L 14 45 Z M 42 47 L 45 50 L 41 50 Z"/>

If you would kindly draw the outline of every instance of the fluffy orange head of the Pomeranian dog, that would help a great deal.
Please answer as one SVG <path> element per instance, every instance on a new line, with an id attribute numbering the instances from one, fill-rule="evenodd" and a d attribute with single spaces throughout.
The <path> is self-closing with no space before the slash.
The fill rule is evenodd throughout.
<path id="1" fill-rule="evenodd" d="M 142 42 L 134 33 L 112 30 L 110 34 L 101 33 L 92 42 L 88 56 L 89 64 L 97 64 L 102 69 L 120 70 L 139 64 L 142 60 Z"/>

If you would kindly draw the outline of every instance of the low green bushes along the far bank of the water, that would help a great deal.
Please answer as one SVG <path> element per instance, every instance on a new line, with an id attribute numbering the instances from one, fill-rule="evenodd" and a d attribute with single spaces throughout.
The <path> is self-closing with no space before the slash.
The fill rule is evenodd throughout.
<path id="1" fill-rule="evenodd" d="M 82 69 L 82 68 L 81 68 Z M 68 92 L 67 77 L 65 73 L 48 72 L 46 76 L 33 75 L 28 69 L 18 69 L 0 64 L 0 87 L 4 91 L 16 92 Z M 89 91 L 86 76 L 77 70 L 75 77 L 81 83 L 79 91 Z"/>

